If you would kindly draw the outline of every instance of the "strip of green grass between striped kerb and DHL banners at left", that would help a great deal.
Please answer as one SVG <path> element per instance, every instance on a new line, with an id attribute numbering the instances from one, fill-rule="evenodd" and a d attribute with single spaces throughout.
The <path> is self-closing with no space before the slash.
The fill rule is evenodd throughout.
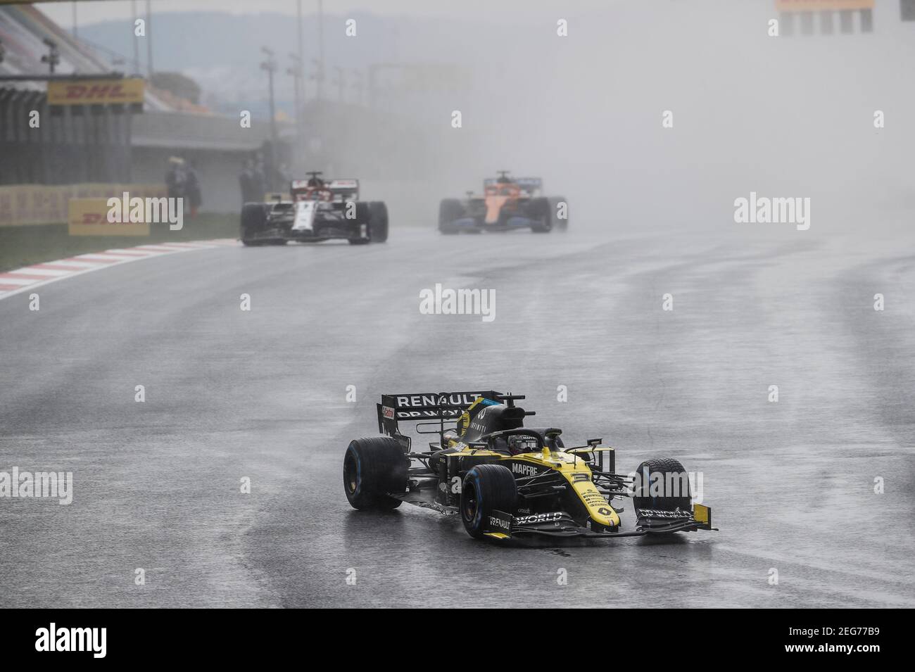
<path id="1" fill-rule="evenodd" d="M 238 215 L 201 213 L 197 219 L 185 218 L 179 231 L 169 230 L 167 224 L 151 224 L 148 236 L 70 236 L 66 224 L 0 227 L 0 272 L 74 254 L 213 238 L 238 238 Z"/>

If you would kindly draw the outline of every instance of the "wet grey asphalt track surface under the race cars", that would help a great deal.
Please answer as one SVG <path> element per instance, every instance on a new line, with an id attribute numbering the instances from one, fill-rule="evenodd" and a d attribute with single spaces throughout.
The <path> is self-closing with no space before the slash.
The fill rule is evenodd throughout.
<path id="1" fill-rule="evenodd" d="M 393 229 L 0 301 L 0 470 L 75 479 L 70 507 L 0 499 L 0 606 L 915 606 L 911 239 L 753 233 Z M 495 321 L 420 315 L 435 283 L 495 289 Z M 482 388 L 620 470 L 701 471 L 721 531 L 505 549 L 350 509 L 342 453 L 382 391 Z"/>

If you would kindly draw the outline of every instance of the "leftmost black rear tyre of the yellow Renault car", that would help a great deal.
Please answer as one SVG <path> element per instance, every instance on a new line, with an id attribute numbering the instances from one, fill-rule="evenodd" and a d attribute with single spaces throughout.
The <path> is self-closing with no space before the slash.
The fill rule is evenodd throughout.
<path id="1" fill-rule="evenodd" d="M 353 508 L 392 509 L 402 500 L 410 460 L 390 436 L 354 439 L 343 456 L 343 489 Z"/>

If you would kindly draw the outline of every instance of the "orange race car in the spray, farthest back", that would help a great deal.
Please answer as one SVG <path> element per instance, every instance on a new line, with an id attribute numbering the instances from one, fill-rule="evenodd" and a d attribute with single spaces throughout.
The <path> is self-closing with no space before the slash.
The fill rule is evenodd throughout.
<path id="1" fill-rule="evenodd" d="M 483 195 L 445 198 L 438 207 L 438 230 L 445 234 L 531 229 L 549 233 L 568 228 L 568 203 L 564 197 L 542 196 L 540 177 L 508 176 L 483 181 Z"/>

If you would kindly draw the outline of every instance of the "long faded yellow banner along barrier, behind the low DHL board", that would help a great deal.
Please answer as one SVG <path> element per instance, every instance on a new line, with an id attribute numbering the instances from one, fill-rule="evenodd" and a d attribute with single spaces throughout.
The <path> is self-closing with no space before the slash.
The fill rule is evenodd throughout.
<path id="1" fill-rule="evenodd" d="M 124 192 L 141 198 L 168 195 L 165 185 L 16 185 L 0 187 L 0 227 L 24 224 L 66 224 L 70 221 L 70 198 L 122 197 Z"/>

